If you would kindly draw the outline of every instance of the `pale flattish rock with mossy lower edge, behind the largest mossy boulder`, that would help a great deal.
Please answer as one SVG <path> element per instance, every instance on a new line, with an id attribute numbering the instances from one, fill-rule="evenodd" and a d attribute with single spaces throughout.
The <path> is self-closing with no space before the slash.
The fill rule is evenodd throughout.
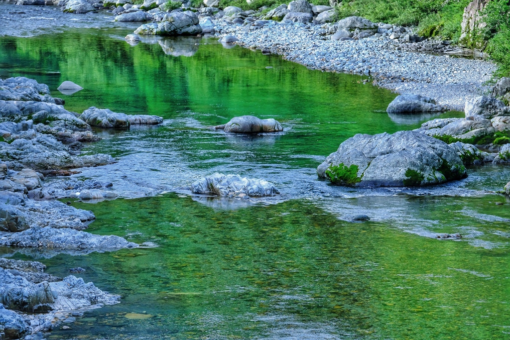
<path id="1" fill-rule="evenodd" d="M 446 142 L 461 141 L 468 144 L 477 144 L 482 138 L 496 132 L 491 120 L 482 116 L 433 119 L 423 123 L 418 130 Z"/>

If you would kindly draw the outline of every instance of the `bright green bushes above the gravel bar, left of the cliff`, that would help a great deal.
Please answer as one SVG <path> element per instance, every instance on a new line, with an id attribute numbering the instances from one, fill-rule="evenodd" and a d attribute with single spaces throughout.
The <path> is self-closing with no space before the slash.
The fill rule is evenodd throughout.
<path id="1" fill-rule="evenodd" d="M 358 15 L 374 22 L 415 25 L 423 36 L 458 40 L 468 4 L 469 0 L 342 0 L 338 12 L 340 18 Z"/>

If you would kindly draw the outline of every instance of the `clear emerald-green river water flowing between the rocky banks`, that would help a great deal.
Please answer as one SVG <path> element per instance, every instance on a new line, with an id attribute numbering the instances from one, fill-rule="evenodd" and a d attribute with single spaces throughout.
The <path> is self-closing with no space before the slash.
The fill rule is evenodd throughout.
<path id="1" fill-rule="evenodd" d="M 510 213 L 505 197 L 488 192 L 506 184 L 506 167 L 474 167 L 467 179 L 435 188 L 329 186 L 315 169 L 342 141 L 416 128 L 431 116 L 389 116 L 395 94 L 359 76 L 212 39 L 130 46 L 118 39 L 125 33 L 0 39 L 1 76 L 48 84 L 68 110 L 165 118 L 160 126 L 99 131 L 104 140 L 86 147 L 119 162 L 78 177 L 110 180 L 125 197 L 156 195 L 73 203 L 95 213 L 89 231 L 158 248 L 43 258 L 49 273 L 80 266 L 84 279 L 123 297 L 48 338 L 507 336 Z M 64 80 L 85 89 L 60 95 Z M 245 114 L 274 117 L 286 129 L 246 137 L 207 128 Z M 254 202 L 159 195 L 216 171 L 263 177 L 282 195 Z M 345 221 L 359 213 L 372 221 Z M 436 240 L 439 232 L 464 238 Z M 30 258 L 13 251 L 2 249 Z M 132 320 L 127 312 L 153 317 Z"/>

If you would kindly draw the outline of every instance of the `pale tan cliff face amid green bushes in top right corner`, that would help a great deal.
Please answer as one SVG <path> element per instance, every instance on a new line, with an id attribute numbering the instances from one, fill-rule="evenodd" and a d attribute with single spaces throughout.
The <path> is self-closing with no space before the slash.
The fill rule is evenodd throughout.
<path id="1" fill-rule="evenodd" d="M 464 9 L 461 24 L 461 43 L 478 49 L 484 47 L 483 41 L 478 41 L 476 39 L 476 32 L 486 26 L 486 23 L 481 20 L 482 16 L 480 13 L 489 1 L 490 0 L 474 0 Z"/>

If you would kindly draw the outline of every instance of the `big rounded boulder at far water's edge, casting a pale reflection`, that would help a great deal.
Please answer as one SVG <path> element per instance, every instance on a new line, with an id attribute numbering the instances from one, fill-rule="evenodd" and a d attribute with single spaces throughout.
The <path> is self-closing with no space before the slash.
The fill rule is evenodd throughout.
<path id="1" fill-rule="evenodd" d="M 160 23 L 147 23 L 136 29 L 142 35 L 197 35 L 202 32 L 198 16 L 191 11 L 167 13 Z"/>

